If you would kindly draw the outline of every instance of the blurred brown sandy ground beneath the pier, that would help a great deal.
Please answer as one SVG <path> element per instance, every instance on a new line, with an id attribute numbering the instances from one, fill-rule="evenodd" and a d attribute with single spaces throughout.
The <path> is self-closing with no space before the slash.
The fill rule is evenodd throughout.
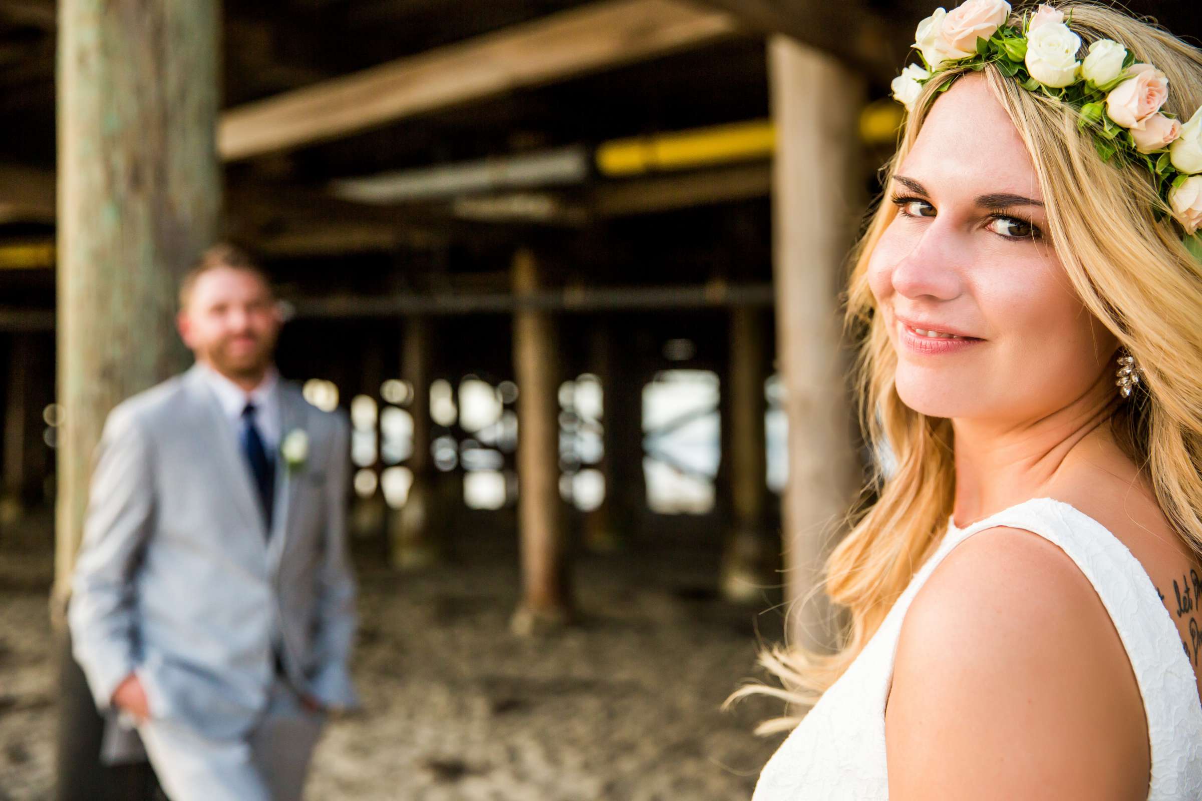
<path id="1" fill-rule="evenodd" d="M 43 539 L 0 539 L 0 801 L 53 787 Z M 364 709 L 327 728 L 309 801 L 750 797 L 779 743 L 751 729 L 779 704 L 719 705 L 754 675 L 756 629 L 779 636 L 779 614 L 718 600 L 712 561 L 661 545 L 581 560 L 581 624 L 520 639 L 507 627 L 516 555 L 460 550 L 399 575 L 357 555 Z"/>

